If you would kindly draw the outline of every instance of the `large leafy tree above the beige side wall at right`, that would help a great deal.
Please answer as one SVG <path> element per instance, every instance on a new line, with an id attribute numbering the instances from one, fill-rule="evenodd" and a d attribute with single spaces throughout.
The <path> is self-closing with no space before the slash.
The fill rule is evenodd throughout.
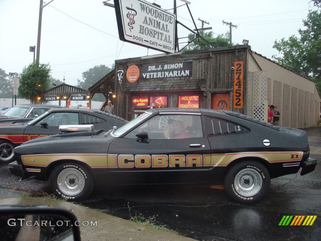
<path id="1" fill-rule="evenodd" d="M 321 1 L 315 0 L 314 6 L 320 8 Z M 316 82 L 321 91 L 321 11 L 309 11 L 307 19 L 303 20 L 304 30 L 299 29 L 300 37 L 292 35 L 275 41 L 275 48 L 281 57 L 272 58 L 282 66 Z"/>

